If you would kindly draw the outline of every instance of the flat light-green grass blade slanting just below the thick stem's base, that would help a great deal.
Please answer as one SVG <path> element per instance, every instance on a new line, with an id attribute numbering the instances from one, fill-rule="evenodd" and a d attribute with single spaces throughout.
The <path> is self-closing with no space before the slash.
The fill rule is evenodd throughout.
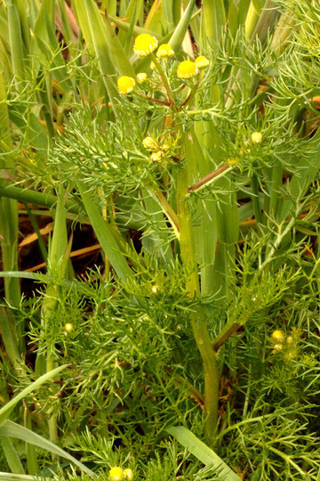
<path id="1" fill-rule="evenodd" d="M 205 465 L 212 465 L 214 468 L 220 469 L 221 479 L 226 481 L 241 481 L 241 478 L 221 460 L 210 447 L 198 439 L 191 431 L 183 426 L 172 426 L 166 428 L 165 431 L 175 437 L 185 448 L 188 449 L 196 458 Z"/>

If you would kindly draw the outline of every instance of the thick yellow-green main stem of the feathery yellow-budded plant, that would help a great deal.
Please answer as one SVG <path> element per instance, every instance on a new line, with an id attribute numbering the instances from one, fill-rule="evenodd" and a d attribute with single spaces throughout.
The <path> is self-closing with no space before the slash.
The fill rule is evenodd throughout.
<path id="1" fill-rule="evenodd" d="M 200 296 L 199 278 L 196 265 L 195 247 L 191 212 L 188 207 L 188 166 L 181 167 L 178 175 L 178 216 L 180 221 L 180 251 L 188 271 L 187 290 L 190 298 Z M 207 329 L 204 312 L 201 307 L 191 314 L 191 326 L 196 346 L 204 363 L 204 423 L 205 434 L 212 435 L 218 420 L 220 374 L 217 355 L 212 349 L 212 340 Z"/>

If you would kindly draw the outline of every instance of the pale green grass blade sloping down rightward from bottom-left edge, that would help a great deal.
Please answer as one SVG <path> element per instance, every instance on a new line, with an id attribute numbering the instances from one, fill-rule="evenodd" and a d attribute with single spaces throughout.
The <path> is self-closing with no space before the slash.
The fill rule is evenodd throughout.
<path id="1" fill-rule="evenodd" d="M 44 374 L 45 376 L 46 374 Z M 0 426 L 0 436 L 9 436 L 9 437 L 16 437 L 17 439 L 21 439 L 29 444 L 34 444 L 41 449 L 45 449 L 46 451 L 52 452 L 53 454 L 57 454 L 61 458 L 65 458 L 68 461 L 73 462 L 76 466 L 82 469 L 85 473 L 87 473 L 91 478 L 97 477 L 93 471 L 80 461 L 77 461 L 76 458 L 71 456 L 68 452 L 64 451 L 57 445 L 53 444 L 48 439 L 45 439 L 43 436 L 39 436 L 30 429 L 23 428 L 12 422 L 11 420 L 5 420 L 4 423 Z"/>

